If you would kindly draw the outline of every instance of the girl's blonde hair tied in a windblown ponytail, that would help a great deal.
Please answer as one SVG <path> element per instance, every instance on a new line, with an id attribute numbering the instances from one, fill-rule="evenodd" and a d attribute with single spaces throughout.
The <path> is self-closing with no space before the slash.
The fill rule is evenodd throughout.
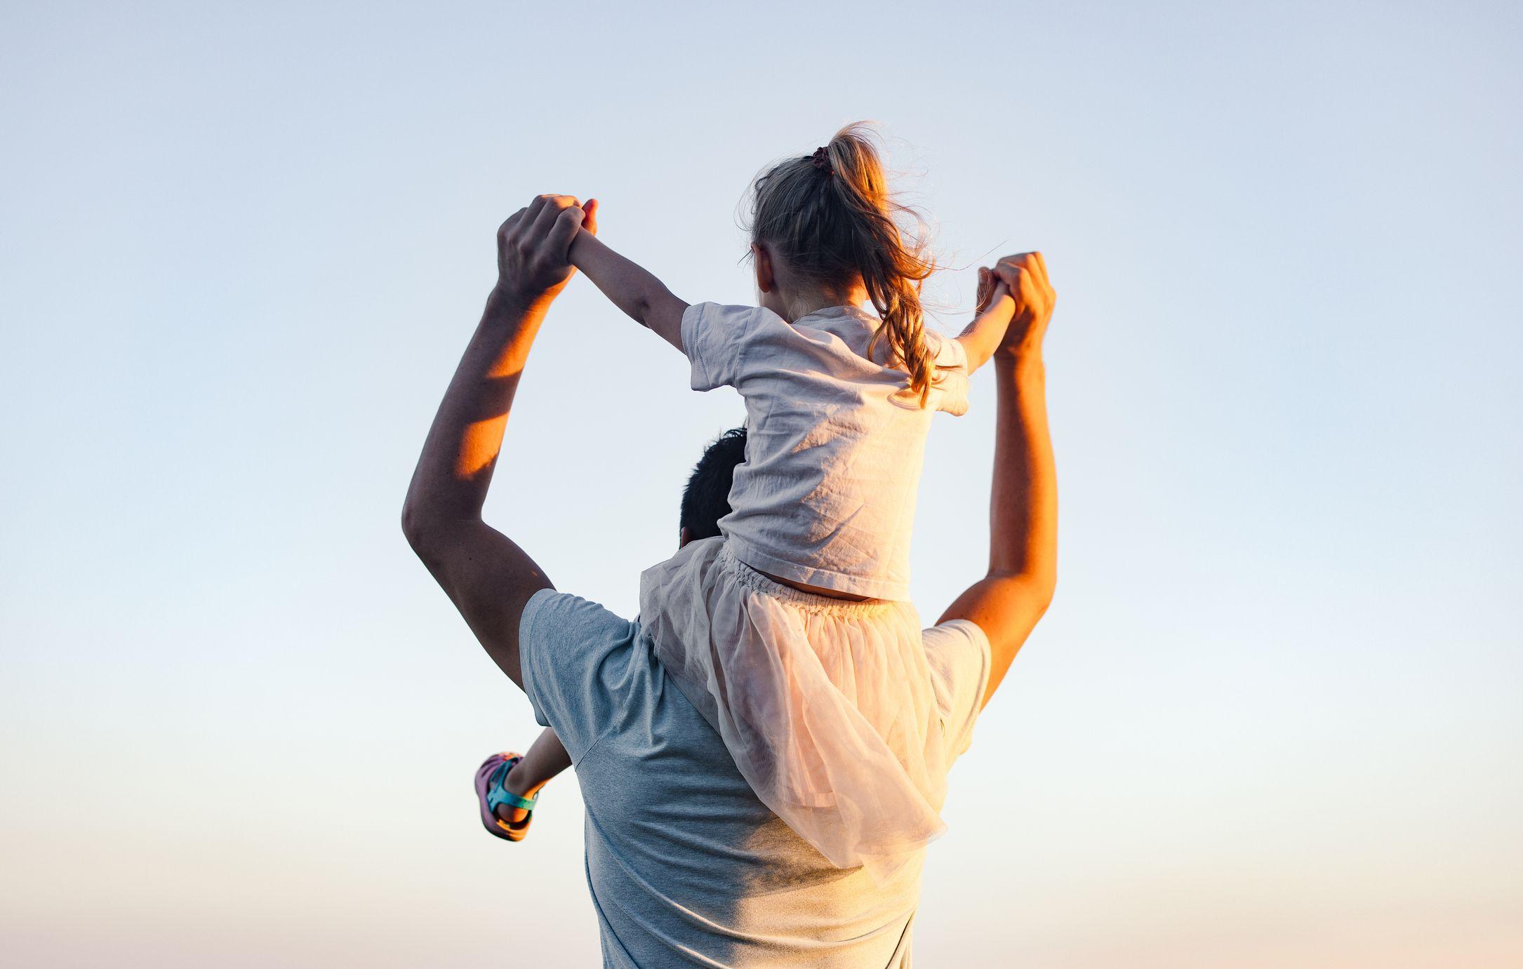
<path id="1" fill-rule="evenodd" d="M 813 155 L 786 158 L 751 186 L 751 238 L 766 242 L 806 283 L 845 286 L 862 277 L 883 325 L 868 357 L 888 343 L 888 366 L 909 373 L 908 390 L 924 407 L 935 376 L 926 347 L 920 286 L 935 262 L 920 236 L 900 230 L 920 219 L 889 195 L 874 131 L 847 125 Z"/>

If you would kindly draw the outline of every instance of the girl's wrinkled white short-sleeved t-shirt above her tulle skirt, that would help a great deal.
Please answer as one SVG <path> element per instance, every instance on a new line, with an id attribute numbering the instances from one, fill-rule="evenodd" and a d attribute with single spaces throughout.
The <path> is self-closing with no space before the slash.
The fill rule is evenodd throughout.
<path id="1" fill-rule="evenodd" d="M 760 306 L 693 303 L 682 352 L 693 390 L 730 385 L 746 402 L 746 460 L 719 520 L 736 558 L 806 585 L 908 600 L 931 414 L 967 413 L 967 353 L 926 331 L 937 372 L 920 407 L 905 370 L 868 358 L 879 326 L 859 306 L 789 323 Z"/>

